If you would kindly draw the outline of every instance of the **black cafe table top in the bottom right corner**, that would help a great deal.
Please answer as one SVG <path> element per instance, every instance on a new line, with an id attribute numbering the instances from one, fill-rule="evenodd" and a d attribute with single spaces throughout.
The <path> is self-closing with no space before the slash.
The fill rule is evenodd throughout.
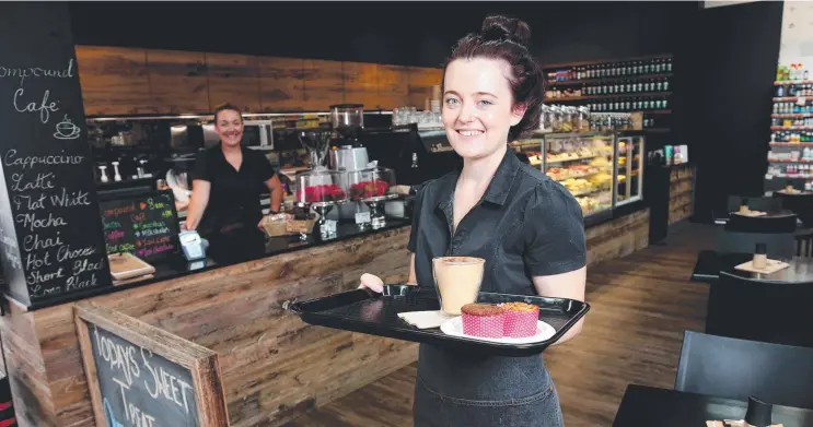
<path id="1" fill-rule="evenodd" d="M 613 427 L 705 427 L 707 420 L 743 419 L 747 402 L 629 384 Z M 813 411 L 774 405 L 774 424 L 813 427 Z"/>

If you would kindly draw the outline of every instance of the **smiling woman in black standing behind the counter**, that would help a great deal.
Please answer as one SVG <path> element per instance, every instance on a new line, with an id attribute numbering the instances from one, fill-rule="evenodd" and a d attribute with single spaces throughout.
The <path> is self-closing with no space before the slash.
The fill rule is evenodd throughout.
<path id="1" fill-rule="evenodd" d="M 265 236 L 259 229 L 259 198 L 270 191 L 270 211 L 279 212 L 282 185 L 263 153 L 241 144 L 243 116 L 237 107 L 218 107 L 214 130 L 220 143 L 199 153 L 195 162 L 186 229 L 209 239 L 216 253 L 260 251 Z"/>

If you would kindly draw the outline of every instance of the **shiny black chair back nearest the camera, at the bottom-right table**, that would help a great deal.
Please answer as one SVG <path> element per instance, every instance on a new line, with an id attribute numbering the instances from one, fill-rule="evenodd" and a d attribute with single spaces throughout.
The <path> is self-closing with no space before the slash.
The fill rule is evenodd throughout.
<path id="1" fill-rule="evenodd" d="M 675 390 L 813 408 L 813 348 L 686 331 Z"/>

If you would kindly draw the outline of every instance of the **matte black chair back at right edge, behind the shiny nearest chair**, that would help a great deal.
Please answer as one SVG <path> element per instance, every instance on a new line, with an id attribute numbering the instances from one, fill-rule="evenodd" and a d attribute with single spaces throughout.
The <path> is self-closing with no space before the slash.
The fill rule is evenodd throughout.
<path id="1" fill-rule="evenodd" d="M 776 283 L 720 272 L 710 285 L 706 333 L 813 348 L 813 283 Z"/>

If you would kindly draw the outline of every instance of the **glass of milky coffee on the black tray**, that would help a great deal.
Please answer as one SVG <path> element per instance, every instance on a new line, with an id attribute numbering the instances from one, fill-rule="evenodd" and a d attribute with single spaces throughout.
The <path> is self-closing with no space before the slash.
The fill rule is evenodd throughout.
<path id="1" fill-rule="evenodd" d="M 486 260 L 472 257 L 440 257 L 432 260 L 441 309 L 460 316 L 461 307 L 477 301 Z"/>

